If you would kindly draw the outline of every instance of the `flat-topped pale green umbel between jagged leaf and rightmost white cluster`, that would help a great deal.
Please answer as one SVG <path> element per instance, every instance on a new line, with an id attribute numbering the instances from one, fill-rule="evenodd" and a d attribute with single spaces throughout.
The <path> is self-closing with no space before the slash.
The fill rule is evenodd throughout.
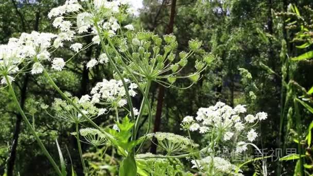
<path id="1" fill-rule="evenodd" d="M 199 146 L 193 140 L 173 133 L 156 132 L 147 134 L 147 137 L 150 139 L 155 137 L 158 140 L 158 146 L 164 149 L 167 155 L 186 153 Z"/>

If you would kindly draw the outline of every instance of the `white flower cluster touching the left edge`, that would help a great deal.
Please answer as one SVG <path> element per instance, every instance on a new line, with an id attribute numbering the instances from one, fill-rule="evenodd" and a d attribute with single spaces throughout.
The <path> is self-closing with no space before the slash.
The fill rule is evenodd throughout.
<path id="1" fill-rule="evenodd" d="M 20 38 L 11 38 L 7 45 L 0 45 L 0 74 L 9 75 L 19 72 L 19 64 L 22 62 L 34 62 L 31 68 L 31 74 L 40 74 L 44 66 L 42 61 L 51 61 L 51 50 L 59 47 L 54 43 L 57 40 L 62 41 L 64 37 L 53 33 L 22 33 Z M 54 40 L 54 43 L 53 43 Z M 61 71 L 65 62 L 62 58 L 55 58 L 52 61 L 52 68 Z M 14 80 L 13 77 L 9 77 Z M 2 79 L 2 83 L 6 81 Z"/>

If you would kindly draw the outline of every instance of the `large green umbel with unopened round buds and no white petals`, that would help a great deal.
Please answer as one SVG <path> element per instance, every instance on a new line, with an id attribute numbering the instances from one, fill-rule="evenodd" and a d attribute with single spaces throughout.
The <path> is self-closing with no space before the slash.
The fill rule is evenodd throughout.
<path id="1" fill-rule="evenodd" d="M 117 56 L 114 61 L 126 75 L 133 74 L 143 81 L 155 81 L 164 86 L 173 86 L 177 79 L 189 78 L 192 83 L 200 79 L 200 73 L 214 60 L 206 54 L 194 63 L 196 71 L 186 76 L 180 72 L 188 64 L 189 57 L 199 50 L 201 41 L 190 40 L 189 51 L 182 51 L 176 56 L 178 42 L 172 34 L 163 38 L 152 32 L 127 32 L 126 37 L 108 39 L 108 52 Z M 115 47 L 116 46 L 116 47 Z"/>

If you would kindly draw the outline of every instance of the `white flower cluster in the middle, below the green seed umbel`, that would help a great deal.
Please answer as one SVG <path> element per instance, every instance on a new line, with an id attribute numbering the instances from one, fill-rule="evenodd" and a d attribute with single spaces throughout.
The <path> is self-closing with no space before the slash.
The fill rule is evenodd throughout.
<path id="1" fill-rule="evenodd" d="M 125 79 L 125 82 L 129 83 L 129 80 Z M 137 84 L 130 83 L 129 94 L 134 97 L 137 93 L 134 91 L 137 89 Z M 121 80 L 107 80 L 103 79 L 102 82 L 98 82 L 92 91 L 92 103 L 107 104 L 109 107 L 124 107 L 127 104 L 126 93 Z"/>

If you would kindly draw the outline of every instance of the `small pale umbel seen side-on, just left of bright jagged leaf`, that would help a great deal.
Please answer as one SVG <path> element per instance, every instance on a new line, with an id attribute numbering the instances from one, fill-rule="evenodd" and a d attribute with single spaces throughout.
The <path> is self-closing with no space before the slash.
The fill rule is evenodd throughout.
<path id="1" fill-rule="evenodd" d="M 108 138 L 102 132 L 94 128 L 80 129 L 79 133 L 85 139 L 85 140 L 82 140 L 82 142 L 93 145 L 95 147 L 108 145 L 110 143 Z M 73 132 L 71 134 L 77 135 L 76 132 Z"/>

